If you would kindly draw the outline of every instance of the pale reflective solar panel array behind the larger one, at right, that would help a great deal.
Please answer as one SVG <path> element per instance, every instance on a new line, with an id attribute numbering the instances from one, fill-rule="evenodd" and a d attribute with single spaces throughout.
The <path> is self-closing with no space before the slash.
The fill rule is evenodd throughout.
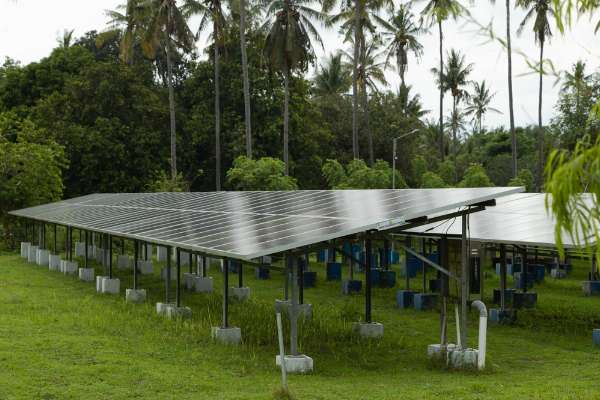
<path id="1" fill-rule="evenodd" d="M 595 203 L 592 194 L 583 196 L 590 207 Z M 545 193 L 518 193 L 499 199 L 495 207 L 469 216 L 470 238 L 479 242 L 556 247 L 556 223 L 546 210 L 545 198 Z M 406 232 L 461 235 L 461 231 L 460 222 L 447 220 L 441 224 L 408 229 Z M 563 242 L 567 248 L 577 247 L 566 232 Z"/>

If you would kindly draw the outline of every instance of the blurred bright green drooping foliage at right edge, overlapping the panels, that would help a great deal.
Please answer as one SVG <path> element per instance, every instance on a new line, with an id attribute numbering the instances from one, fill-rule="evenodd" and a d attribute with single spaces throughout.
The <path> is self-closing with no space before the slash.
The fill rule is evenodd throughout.
<path id="1" fill-rule="evenodd" d="M 556 244 L 562 253 L 562 236 L 566 232 L 576 243 L 598 243 L 600 240 L 600 137 L 579 142 L 571 153 L 554 150 L 548 157 L 546 175 L 546 207 L 556 218 Z M 591 193 L 591 204 L 582 193 Z M 549 195 L 552 195 L 550 198 Z M 596 246 L 597 255 L 600 248 Z"/>

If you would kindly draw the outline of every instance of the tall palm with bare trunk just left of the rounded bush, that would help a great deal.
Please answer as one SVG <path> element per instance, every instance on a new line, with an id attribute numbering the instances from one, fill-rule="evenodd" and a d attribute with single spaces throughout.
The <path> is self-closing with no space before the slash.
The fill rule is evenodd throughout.
<path id="1" fill-rule="evenodd" d="M 225 14 L 221 0 L 186 0 L 183 10 L 187 17 L 200 16 L 196 37 L 212 23 L 213 63 L 215 84 L 215 187 L 221 190 L 221 70 L 219 55 L 225 34 Z M 240 29 L 241 30 L 241 29 Z"/>

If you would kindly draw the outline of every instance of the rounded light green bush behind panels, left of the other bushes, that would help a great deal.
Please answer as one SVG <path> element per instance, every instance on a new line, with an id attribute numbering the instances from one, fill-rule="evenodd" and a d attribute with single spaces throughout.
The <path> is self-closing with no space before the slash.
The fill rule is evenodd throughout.
<path id="1" fill-rule="evenodd" d="M 262 157 L 258 160 L 239 156 L 227 171 L 227 184 L 233 190 L 297 190 L 296 179 L 285 175 L 281 160 Z"/>

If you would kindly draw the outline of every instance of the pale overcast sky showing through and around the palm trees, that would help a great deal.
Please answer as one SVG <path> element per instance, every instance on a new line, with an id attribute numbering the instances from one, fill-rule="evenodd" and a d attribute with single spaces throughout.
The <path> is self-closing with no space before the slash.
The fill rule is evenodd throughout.
<path id="1" fill-rule="evenodd" d="M 104 10 L 114 9 L 122 2 L 124 0 L 0 0 L 0 60 L 8 56 L 23 64 L 37 61 L 50 53 L 64 29 L 74 29 L 76 36 L 93 29 L 102 30 L 107 22 Z M 476 7 L 469 7 L 473 17 L 483 24 L 493 21 L 494 30 L 504 35 L 504 2 L 497 1 L 495 5 L 491 5 L 489 1 L 476 0 L 476 3 Z M 417 3 L 417 11 L 420 11 L 422 4 Z M 512 17 L 514 49 L 537 59 L 538 48 L 534 43 L 531 26 L 526 27 L 521 37 L 516 35 L 523 12 L 514 11 Z M 502 110 L 504 114 L 489 114 L 485 120 L 486 125 L 506 126 L 508 90 L 506 60 L 502 49 L 497 43 L 485 44 L 485 39 L 474 32 L 474 26 L 465 25 L 464 22 L 446 22 L 444 30 L 445 49 L 455 48 L 464 52 L 467 61 L 475 65 L 471 78 L 477 81 L 485 79 L 496 92 L 493 107 Z M 319 57 L 343 47 L 337 30 L 323 29 L 322 35 L 325 51 L 317 49 Z M 204 41 L 205 39 L 201 39 L 198 45 L 202 47 Z M 421 42 L 425 55 L 419 63 L 411 57 L 406 81 L 421 94 L 425 108 L 432 111 L 430 118 L 434 118 L 439 99 L 430 69 L 439 63 L 437 30 L 423 36 Z M 555 30 L 555 36 L 546 46 L 545 53 L 557 69 L 569 69 L 574 62 L 582 59 L 587 61 L 588 71 L 591 72 L 598 68 L 600 61 L 597 43 L 598 36 L 594 36 L 593 24 L 587 19 L 581 19 L 564 36 L 560 36 Z M 518 54 L 513 57 L 513 71 L 516 123 L 533 124 L 537 121 L 537 77 L 522 76 L 529 70 L 524 58 Z M 391 87 L 397 88 L 397 74 L 389 71 L 387 76 Z M 551 77 L 546 78 L 544 83 L 543 113 L 544 121 L 547 122 L 554 114 L 560 86 L 554 86 L 554 79 Z M 449 107 L 450 99 L 446 100 Z"/>

